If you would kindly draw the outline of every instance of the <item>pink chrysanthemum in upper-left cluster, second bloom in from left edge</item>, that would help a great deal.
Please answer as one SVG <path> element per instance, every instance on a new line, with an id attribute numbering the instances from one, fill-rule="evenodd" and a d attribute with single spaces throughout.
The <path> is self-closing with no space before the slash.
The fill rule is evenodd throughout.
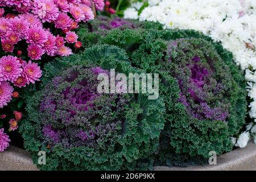
<path id="1" fill-rule="evenodd" d="M 24 38 L 29 26 L 24 18 L 15 17 L 9 20 L 9 30 L 19 34 L 21 38 Z"/>

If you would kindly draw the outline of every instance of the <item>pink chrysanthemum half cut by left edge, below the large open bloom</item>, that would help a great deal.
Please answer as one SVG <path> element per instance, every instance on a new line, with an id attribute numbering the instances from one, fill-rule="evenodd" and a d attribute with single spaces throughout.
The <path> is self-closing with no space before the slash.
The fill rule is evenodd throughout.
<path id="1" fill-rule="evenodd" d="M 11 96 L 13 96 L 13 86 L 10 82 L 0 81 L 0 108 L 7 106 L 7 103 L 11 101 Z"/>

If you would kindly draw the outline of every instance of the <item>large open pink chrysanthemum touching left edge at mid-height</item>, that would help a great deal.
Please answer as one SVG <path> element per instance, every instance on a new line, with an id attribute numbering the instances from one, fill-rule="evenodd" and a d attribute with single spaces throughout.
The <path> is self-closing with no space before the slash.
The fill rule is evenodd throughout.
<path id="1" fill-rule="evenodd" d="M 3 56 L 0 59 L 0 81 L 14 82 L 19 76 L 21 76 L 22 65 L 19 63 L 17 57 L 8 55 Z"/>

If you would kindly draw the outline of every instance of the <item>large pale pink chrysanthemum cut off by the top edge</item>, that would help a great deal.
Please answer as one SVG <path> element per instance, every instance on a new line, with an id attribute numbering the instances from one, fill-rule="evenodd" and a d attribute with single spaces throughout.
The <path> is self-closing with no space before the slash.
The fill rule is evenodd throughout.
<path id="1" fill-rule="evenodd" d="M 53 0 L 36 0 L 32 7 L 32 13 L 38 15 L 42 22 L 51 23 L 59 16 L 59 9 Z"/>

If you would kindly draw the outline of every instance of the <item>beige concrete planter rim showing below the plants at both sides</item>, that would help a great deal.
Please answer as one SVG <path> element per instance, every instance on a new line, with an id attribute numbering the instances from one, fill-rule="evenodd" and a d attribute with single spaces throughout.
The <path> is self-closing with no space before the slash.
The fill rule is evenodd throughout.
<path id="1" fill-rule="evenodd" d="M 0 153 L 0 171 L 36 171 L 30 154 L 20 148 L 10 146 Z M 237 148 L 217 156 L 216 165 L 190 166 L 185 168 L 156 166 L 155 171 L 223 171 L 254 170 L 256 171 L 256 144 L 250 142 L 245 148 Z"/>

